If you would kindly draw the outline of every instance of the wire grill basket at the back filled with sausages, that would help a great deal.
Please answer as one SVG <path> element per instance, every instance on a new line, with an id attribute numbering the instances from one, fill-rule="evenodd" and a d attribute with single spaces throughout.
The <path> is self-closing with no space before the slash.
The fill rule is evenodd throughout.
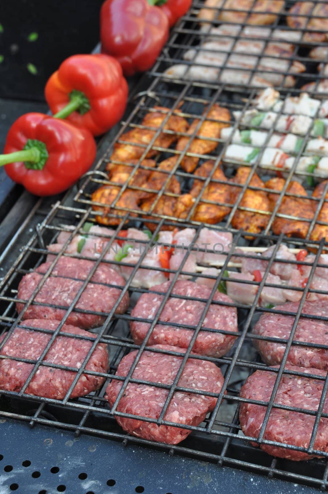
<path id="1" fill-rule="evenodd" d="M 174 82 L 232 84 L 244 91 L 273 85 L 327 92 L 326 5 L 195 1 L 152 73 Z M 270 7 L 273 15 L 267 15 Z"/>

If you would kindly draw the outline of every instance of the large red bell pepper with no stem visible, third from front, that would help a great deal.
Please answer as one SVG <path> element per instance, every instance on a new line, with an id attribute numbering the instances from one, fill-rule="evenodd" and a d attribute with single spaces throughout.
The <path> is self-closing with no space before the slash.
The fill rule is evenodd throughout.
<path id="1" fill-rule="evenodd" d="M 100 12 L 102 52 L 120 62 L 125 76 L 156 62 L 168 38 L 168 19 L 156 0 L 106 0 Z M 150 4 L 151 3 L 151 4 Z"/>

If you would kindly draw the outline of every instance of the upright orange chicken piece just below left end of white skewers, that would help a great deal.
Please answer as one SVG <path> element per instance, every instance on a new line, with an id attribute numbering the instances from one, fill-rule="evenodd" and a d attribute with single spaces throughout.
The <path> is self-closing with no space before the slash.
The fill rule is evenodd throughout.
<path id="1" fill-rule="evenodd" d="M 246 166 L 240 166 L 235 177 L 232 179 L 232 182 L 244 185 L 250 171 L 250 168 Z M 253 187 L 264 188 L 264 183 L 259 178 L 259 176 L 256 175 L 256 173 L 254 173 L 252 178 L 250 179 L 249 185 Z M 241 194 L 241 191 L 242 189 L 240 187 L 233 188 L 231 197 L 232 204 L 239 201 L 239 195 Z M 234 228 L 243 228 L 243 230 L 247 232 L 260 233 L 261 230 L 263 230 L 267 226 L 270 216 L 268 214 L 265 214 L 265 211 L 270 211 L 270 202 L 266 192 L 246 189 L 242 199 L 239 202 L 238 207 L 249 207 L 252 209 L 257 209 L 258 211 L 263 211 L 263 214 L 260 212 L 251 212 L 237 209 L 231 221 L 231 224 Z M 251 239 L 252 237 L 246 238 Z"/>

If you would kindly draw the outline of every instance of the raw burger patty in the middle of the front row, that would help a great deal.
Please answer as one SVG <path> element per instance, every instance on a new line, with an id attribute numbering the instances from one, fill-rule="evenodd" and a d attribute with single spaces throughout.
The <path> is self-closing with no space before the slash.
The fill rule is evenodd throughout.
<path id="1" fill-rule="evenodd" d="M 169 345 L 154 345 L 152 348 L 161 348 L 175 352 L 183 352 L 181 348 Z M 126 376 L 137 351 L 123 357 L 117 370 L 117 375 Z M 163 384 L 172 384 L 181 365 L 182 357 L 144 351 L 140 357 L 132 377 Z M 212 362 L 188 359 L 179 379 L 178 385 L 188 389 L 200 389 L 211 393 L 219 393 L 223 384 L 223 376 L 218 367 Z M 112 380 L 108 385 L 106 395 L 113 406 L 122 381 Z M 148 418 L 158 418 L 162 412 L 168 390 L 145 384 L 130 383 L 119 402 L 117 411 L 132 413 Z M 199 425 L 211 412 L 216 404 L 216 398 L 193 393 L 177 391 L 164 415 L 164 420 L 177 424 Z M 134 436 L 159 441 L 167 444 L 178 444 L 185 439 L 190 430 L 178 427 L 145 422 L 143 420 L 116 416 L 121 427 Z"/>

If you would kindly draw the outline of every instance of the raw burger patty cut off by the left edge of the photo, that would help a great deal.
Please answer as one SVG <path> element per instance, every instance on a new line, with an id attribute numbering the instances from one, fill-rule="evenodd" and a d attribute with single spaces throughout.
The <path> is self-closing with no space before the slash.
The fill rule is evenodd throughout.
<path id="1" fill-rule="evenodd" d="M 58 321 L 45 321 L 44 319 L 29 319 L 24 321 L 24 325 L 26 326 L 50 329 L 51 331 L 57 329 L 58 324 Z M 51 338 L 51 333 L 23 329 L 24 325 L 13 330 L 0 350 L 1 355 L 31 360 L 37 360 L 41 356 Z M 61 331 L 95 338 L 93 334 L 68 324 L 64 324 Z M 5 334 L 0 337 L 0 342 L 4 336 Z M 91 346 L 92 341 L 90 340 L 57 336 L 43 361 L 79 369 Z M 33 368 L 34 364 L 0 359 L 0 389 L 19 392 Z M 87 371 L 107 372 L 108 353 L 105 344 L 99 343 L 96 346 L 85 369 Z M 75 376 L 76 372 L 74 371 L 64 371 L 62 369 L 40 366 L 26 388 L 25 393 L 62 400 Z M 82 374 L 73 389 L 71 398 L 84 396 L 91 391 L 95 391 L 100 388 L 104 380 L 103 377 Z"/>

